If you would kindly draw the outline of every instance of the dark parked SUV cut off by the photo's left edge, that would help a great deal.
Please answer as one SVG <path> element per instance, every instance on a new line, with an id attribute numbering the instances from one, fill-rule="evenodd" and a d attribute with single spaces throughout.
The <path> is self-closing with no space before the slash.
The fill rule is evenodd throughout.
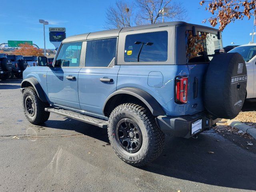
<path id="1" fill-rule="evenodd" d="M 0 54 L 0 79 L 6 80 L 12 72 L 12 62 L 7 58 L 6 54 Z"/>

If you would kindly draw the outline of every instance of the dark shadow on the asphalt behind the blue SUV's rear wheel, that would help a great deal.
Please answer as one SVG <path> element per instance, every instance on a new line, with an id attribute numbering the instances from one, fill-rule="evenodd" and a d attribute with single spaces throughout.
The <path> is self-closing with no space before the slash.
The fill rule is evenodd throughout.
<path id="1" fill-rule="evenodd" d="M 256 155 L 216 133 L 198 139 L 166 137 L 162 155 L 142 169 L 209 185 L 256 189 Z"/>

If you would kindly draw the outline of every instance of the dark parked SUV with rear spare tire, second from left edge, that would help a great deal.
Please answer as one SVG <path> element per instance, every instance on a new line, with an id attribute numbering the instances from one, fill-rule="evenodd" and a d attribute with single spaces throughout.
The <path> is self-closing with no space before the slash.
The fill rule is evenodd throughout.
<path id="1" fill-rule="evenodd" d="M 28 62 L 24 60 L 22 55 L 7 55 L 7 58 L 12 61 L 12 76 L 21 78 L 23 71 L 28 66 Z"/>

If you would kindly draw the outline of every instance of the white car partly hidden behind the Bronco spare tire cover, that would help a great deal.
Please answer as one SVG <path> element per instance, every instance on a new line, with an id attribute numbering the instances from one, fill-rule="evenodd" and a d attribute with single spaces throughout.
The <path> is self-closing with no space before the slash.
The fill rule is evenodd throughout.
<path id="1" fill-rule="evenodd" d="M 229 53 L 235 52 L 241 54 L 246 63 L 248 75 L 246 98 L 256 98 L 256 43 L 238 46 Z"/>

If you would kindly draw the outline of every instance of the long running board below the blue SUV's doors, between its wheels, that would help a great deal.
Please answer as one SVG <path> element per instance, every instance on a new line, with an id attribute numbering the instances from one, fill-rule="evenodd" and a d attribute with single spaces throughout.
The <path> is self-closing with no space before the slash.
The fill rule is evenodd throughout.
<path id="1" fill-rule="evenodd" d="M 82 115 L 80 113 L 76 113 L 73 111 L 64 110 L 64 109 L 56 109 L 56 108 L 45 108 L 44 110 L 51 112 L 51 113 L 56 113 L 58 115 L 62 115 L 62 116 L 65 116 L 65 117 L 68 117 L 71 119 L 82 121 L 82 122 L 85 122 L 88 124 L 92 124 L 92 125 L 98 126 L 100 128 L 108 127 L 108 121 L 106 121 L 106 120 L 101 120 L 101 119 L 97 119 L 94 117 Z"/>

